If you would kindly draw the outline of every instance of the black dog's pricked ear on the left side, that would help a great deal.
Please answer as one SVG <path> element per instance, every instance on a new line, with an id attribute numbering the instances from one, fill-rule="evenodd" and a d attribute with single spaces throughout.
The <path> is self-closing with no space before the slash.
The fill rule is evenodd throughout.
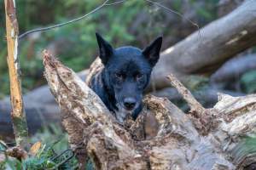
<path id="1" fill-rule="evenodd" d="M 108 59 L 113 54 L 113 48 L 106 40 L 103 39 L 100 34 L 96 33 L 96 38 L 100 50 L 100 58 L 102 59 L 102 64 L 106 65 L 108 63 Z"/>

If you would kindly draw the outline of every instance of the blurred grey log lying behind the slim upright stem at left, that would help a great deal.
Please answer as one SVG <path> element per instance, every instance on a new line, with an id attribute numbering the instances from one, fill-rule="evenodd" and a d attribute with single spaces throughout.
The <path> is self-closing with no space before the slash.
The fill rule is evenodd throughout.
<path id="1" fill-rule="evenodd" d="M 88 71 L 81 71 L 78 76 L 85 81 Z M 44 96 L 44 98 L 42 98 Z M 23 98 L 26 110 L 26 122 L 29 133 L 36 133 L 41 127 L 50 123 L 61 123 L 61 112 L 59 105 L 55 102 L 49 87 L 43 86 L 36 88 L 24 95 Z M 13 141 L 14 132 L 11 122 L 10 113 L 11 105 L 9 97 L 0 101 L 0 136 L 5 141 Z"/>

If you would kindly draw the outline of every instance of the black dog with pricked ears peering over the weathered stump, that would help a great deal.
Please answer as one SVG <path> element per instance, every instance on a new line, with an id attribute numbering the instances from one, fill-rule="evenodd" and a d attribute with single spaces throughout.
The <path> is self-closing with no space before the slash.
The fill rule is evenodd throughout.
<path id="1" fill-rule="evenodd" d="M 114 49 L 97 33 L 96 39 L 104 68 L 91 79 L 90 88 L 119 122 L 127 114 L 136 119 L 143 108 L 143 90 L 160 56 L 162 37 L 143 50 L 131 46 Z"/>

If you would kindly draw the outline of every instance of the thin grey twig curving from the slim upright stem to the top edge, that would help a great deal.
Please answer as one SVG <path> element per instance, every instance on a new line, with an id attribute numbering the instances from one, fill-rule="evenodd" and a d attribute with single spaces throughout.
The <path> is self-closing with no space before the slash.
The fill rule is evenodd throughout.
<path id="1" fill-rule="evenodd" d="M 36 31 L 47 31 L 47 30 L 49 30 L 49 29 L 53 29 L 53 28 L 60 27 L 60 26 L 66 26 L 66 25 L 71 24 L 71 23 L 73 23 L 73 22 L 75 22 L 75 21 L 82 20 L 82 19 L 84 19 L 85 17 L 87 17 L 88 15 L 93 14 L 93 13 L 95 13 L 97 10 L 103 8 L 104 6 L 106 6 L 106 4 L 107 4 L 107 5 L 110 5 L 111 3 L 108 3 L 108 1 L 109 1 L 109 0 L 106 0 L 104 3 L 102 3 L 102 5 L 98 6 L 98 7 L 95 8 L 95 9 L 93 9 L 93 10 L 90 11 L 89 13 L 84 14 L 83 16 L 80 16 L 79 18 L 76 18 L 76 19 L 73 19 L 73 20 L 69 20 L 69 21 L 63 22 L 63 23 L 61 23 L 61 24 L 56 24 L 56 25 L 54 25 L 54 26 L 47 26 L 47 27 L 44 27 L 44 28 L 37 28 L 37 29 L 31 30 L 31 31 L 26 31 L 25 33 L 23 33 L 23 34 L 21 34 L 21 35 L 19 36 L 19 39 L 21 39 L 22 37 L 26 37 L 28 34 L 31 34 L 32 32 L 36 32 Z"/>

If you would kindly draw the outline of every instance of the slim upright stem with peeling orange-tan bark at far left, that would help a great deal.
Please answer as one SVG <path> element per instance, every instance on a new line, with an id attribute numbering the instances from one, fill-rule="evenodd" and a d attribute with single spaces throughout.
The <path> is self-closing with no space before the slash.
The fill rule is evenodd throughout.
<path id="1" fill-rule="evenodd" d="M 15 0 L 5 0 L 6 37 L 8 45 L 8 66 L 10 81 L 11 117 L 15 132 L 16 144 L 24 147 L 27 144 L 26 115 L 23 107 L 18 62 L 18 21 L 15 14 Z"/>

